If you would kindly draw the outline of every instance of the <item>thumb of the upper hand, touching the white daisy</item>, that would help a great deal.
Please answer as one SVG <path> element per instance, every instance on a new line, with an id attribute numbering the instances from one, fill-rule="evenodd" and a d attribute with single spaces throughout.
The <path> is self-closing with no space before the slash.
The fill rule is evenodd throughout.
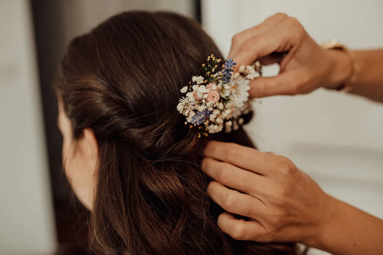
<path id="1" fill-rule="evenodd" d="M 298 71 L 284 72 L 273 77 L 257 77 L 250 81 L 251 98 L 276 95 L 299 94 L 300 75 Z"/>

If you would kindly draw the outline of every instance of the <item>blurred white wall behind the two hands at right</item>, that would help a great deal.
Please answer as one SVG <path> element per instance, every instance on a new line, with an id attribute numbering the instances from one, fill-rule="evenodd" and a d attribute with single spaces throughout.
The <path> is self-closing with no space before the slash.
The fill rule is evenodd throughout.
<path id="1" fill-rule="evenodd" d="M 381 0 L 202 3 L 203 26 L 224 54 L 234 34 L 277 12 L 298 18 L 318 43 L 337 39 L 355 49 L 383 47 Z M 265 76 L 277 73 L 278 66 L 264 69 Z M 383 218 L 382 104 L 325 90 L 257 102 L 247 130 L 260 150 L 290 157 L 327 193 Z"/>

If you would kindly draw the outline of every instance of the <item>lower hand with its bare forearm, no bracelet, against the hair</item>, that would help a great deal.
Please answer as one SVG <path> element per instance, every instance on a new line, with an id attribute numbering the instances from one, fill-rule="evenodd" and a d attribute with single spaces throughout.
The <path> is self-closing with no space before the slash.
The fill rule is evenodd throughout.
<path id="1" fill-rule="evenodd" d="M 215 180 L 208 193 L 226 210 L 218 225 L 234 239 L 383 254 L 383 221 L 327 195 L 286 157 L 216 141 L 205 156 L 202 169 Z"/>

